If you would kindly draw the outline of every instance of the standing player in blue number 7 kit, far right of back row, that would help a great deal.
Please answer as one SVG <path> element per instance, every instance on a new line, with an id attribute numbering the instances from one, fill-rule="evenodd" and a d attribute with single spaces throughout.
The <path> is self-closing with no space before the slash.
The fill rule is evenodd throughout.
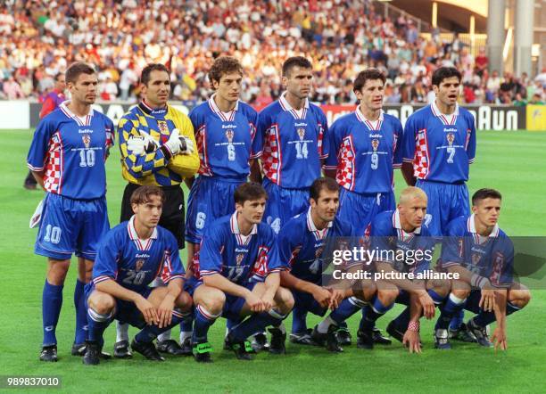
<path id="1" fill-rule="evenodd" d="M 428 196 L 426 221 L 434 236 L 442 235 L 451 220 L 470 212 L 466 182 L 476 156 L 476 127 L 472 114 L 457 103 L 460 79 L 460 72 L 452 67 L 435 70 L 436 99 L 413 113 L 404 128 L 401 171 L 408 185 L 417 185 Z M 462 318 L 452 324 L 455 335 Z M 461 338 L 471 341 L 464 332 Z"/>

